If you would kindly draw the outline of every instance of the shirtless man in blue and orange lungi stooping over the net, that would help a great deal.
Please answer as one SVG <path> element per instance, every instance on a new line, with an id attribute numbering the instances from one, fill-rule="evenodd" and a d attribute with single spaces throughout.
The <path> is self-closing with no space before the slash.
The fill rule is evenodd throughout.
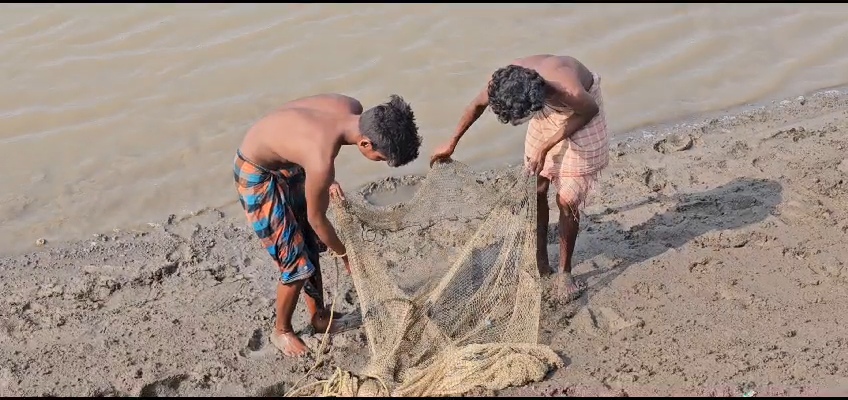
<path id="1" fill-rule="evenodd" d="M 291 325 L 301 288 L 312 326 L 323 332 L 332 325 L 318 254 L 329 247 L 350 272 L 347 250 L 326 215 L 331 192 L 343 199 L 335 159 L 346 145 L 371 161 L 400 167 L 418 157 L 421 137 L 412 109 L 397 95 L 363 112 L 356 99 L 322 94 L 291 101 L 261 119 L 235 157 L 239 200 L 280 271 L 271 342 L 287 356 L 308 351 Z"/>

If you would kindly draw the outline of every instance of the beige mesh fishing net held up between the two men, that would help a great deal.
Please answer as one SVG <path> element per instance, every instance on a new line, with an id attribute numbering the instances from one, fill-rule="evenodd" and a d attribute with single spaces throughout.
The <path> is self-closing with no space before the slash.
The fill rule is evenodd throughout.
<path id="1" fill-rule="evenodd" d="M 436 163 L 410 201 L 336 202 L 371 358 L 324 394 L 454 396 L 539 381 L 535 179 Z M 402 245 L 398 245 L 402 243 Z"/>

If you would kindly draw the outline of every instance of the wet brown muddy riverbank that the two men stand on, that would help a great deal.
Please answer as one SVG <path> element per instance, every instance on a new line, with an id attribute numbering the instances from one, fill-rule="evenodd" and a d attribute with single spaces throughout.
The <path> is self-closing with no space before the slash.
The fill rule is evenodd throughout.
<path id="1" fill-rule="evenodd" d="M 473 394 L 848 386 L 846 106 L 825 91 L 617 141 L 578 238 L 575 272 L 589 290 L 543 306 L 542 342 L 566 367 Z M 0 395 L 282 395 L 312 366 L 268 341 L 275 270 L 239 213 L 170 216 L 0 265 Z M 350 278 L 323 265 L 328 298 L 338 288 L 337 309 L 355 310 Z M 316 345 L 304 315 L 295 328 Z M 319 377 L 363 366 L 363 331 L 335 336 L 327 359 Z"/>

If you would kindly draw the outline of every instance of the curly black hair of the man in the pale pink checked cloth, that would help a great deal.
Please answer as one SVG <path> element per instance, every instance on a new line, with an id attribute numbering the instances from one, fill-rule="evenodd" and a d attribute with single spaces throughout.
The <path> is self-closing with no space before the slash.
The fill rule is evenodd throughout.
<path id="1" fill-rule="evenodd" d="M 489 107 L 503 124 L 518 125 L 545 107 L 548 85 L 538 72 L 509 65 L 492 74 Z"/>

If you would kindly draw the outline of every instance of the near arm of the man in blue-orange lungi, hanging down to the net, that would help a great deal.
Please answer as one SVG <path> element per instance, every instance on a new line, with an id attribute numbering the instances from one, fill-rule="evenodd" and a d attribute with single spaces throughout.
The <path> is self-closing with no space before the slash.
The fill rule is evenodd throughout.
<path id="1" fill-rule="evenodd" d="M 335 182 L 335 170 L 332 164 L 312 168 L 306 174 L 306 210 L 309 225 L 336 254 L 345 254 L 347 249 L 336 234 L 336 229 L 327 218 L 330 206 L 330 185 Z"/>

